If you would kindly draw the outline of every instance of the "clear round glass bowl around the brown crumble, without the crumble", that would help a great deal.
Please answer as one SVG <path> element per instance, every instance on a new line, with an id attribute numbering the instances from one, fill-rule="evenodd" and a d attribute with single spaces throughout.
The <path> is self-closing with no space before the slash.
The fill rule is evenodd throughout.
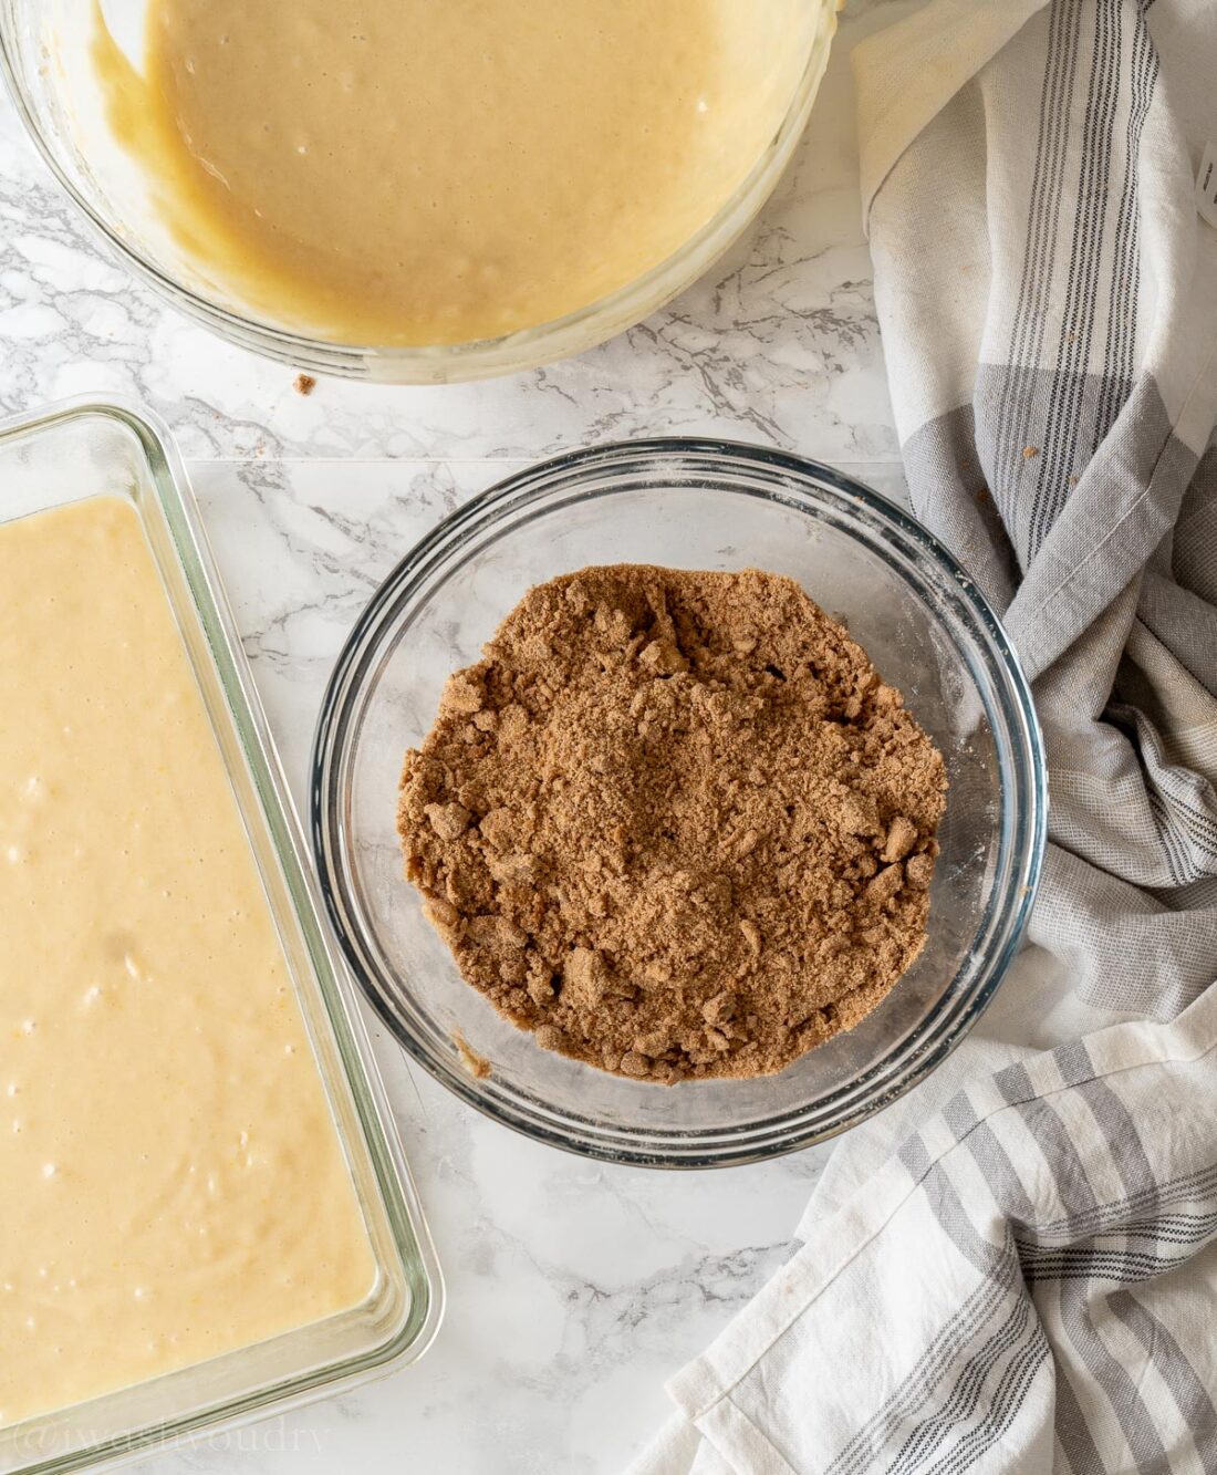
<path id="1" fill-rule="evenodd" d="M 531 586 L 589 563 L 763 568 L 848 622 L 950 777 L 929 940 L 856 1030 L 780 1075 L 673 1087 L 540 1049 L 463 982 L 403 876 L 401 760 L 448 674 Z M 479 1111 L 589 1156 L 751 1162 L 879 1111 L 934 1069 L 997 987 L 1031 907 L 1046 789 L 1031 695 L 968 575 L 900 509 L 814 462 L 711 441 L 580 451 L 474 499 L 385 580 L 347 642 L 313 757 L 313 841 L 342 948 L 388 1025 Z M 485 1058 L 475 1080 L 457 1041 Z"/>

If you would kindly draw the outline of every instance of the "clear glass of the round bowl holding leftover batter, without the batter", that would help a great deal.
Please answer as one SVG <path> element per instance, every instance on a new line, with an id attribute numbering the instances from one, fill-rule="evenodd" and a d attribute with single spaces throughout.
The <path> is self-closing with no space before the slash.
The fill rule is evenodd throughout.
<path id="1" fill-rule="evenodd" d="M 106 22 L 139 55 L 150 0 L 106 0 Z M 229 299 L 158 215 L 152 181 L 111 134 L 90 58 L 96 0 L 0 0 L 0 71 L 56 178 L 109 245 L 183 313 L 243 348 L 319 373 L 447 384 L 516 373 L 624 332 L 695 282 L 773 192 L 807 124 L 836 28 L 836 0 L 802 0 L 805 50 L 785 117 L 730 198 L 679 251 L 620 291 L 503 338 L 443 347 L 327 342 Z"/>

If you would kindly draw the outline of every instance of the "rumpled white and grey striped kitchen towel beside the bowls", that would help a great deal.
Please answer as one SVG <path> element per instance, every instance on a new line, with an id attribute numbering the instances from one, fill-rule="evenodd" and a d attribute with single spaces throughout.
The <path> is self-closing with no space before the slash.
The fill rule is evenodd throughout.
<path id="1" fill-rule="evenodd" d="M 1034 681 L 1075 1007 L 842 1142 L 633 1471 L 1217 1472 L 1217 3 L 931 0 L 854 60 L 913 504 Z"/>

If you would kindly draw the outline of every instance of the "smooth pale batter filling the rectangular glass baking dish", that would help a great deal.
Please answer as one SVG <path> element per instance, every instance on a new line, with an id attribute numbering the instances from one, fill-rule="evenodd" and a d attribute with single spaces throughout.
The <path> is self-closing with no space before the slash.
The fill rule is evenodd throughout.
<path id="1" fill-rule="evenodd" d="M 348 1308 L 373 1260 L 134 510 L 0 527 L 0 1425 Z"/>

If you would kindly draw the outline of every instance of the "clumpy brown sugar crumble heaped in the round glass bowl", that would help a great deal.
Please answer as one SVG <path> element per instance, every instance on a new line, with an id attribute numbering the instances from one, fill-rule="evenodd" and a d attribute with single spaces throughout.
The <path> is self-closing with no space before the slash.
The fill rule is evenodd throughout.
<path id="1" fill-rule="evenodd" d="M 789 578 L 531 590 L 406 755 L 406 875 L 466 981 L 639 1080 L 754 1077 L 920 953 L 946 770 Z"/>

